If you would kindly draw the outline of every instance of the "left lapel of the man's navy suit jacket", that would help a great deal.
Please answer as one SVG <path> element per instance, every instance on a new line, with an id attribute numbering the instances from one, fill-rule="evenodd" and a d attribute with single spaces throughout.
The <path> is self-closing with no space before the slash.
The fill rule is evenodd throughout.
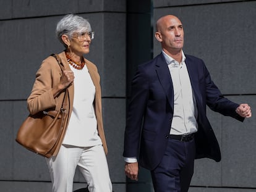
<path id="1" fill-rule="evenodd" d="M 160 54 L 156 59 L 156 75 L 158 76 L 158 80 L 163 87 L 163 90 L 166 94 L 168 102 L 173 109 L 174 104 L 174 93 L 173 93 L 173 81 L 171 80 L 171 74 L 169 72 L 168 65 L 163 57 L 163 54 Z"/>

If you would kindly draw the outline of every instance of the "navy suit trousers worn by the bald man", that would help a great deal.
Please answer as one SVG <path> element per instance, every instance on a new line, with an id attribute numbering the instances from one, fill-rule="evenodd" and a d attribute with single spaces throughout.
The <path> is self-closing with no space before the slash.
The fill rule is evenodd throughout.
<path id="1" fill-rule="evenodd" d="M 155 192 L 187 192 L 194 173 L 195 141 L 168 139 L 162 161 L 151 170 Z"/>

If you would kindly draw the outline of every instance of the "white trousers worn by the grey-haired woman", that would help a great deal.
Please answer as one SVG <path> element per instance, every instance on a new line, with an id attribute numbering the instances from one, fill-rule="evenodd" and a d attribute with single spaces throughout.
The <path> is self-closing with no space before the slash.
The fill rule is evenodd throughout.
<path id="1" fill-rule="evenodd" d="M 112 192 L 108 163 L 102 145 L 80 148 L 62 145 L 56 157 L 46 158 L 53 192 L 72 192 L 75 168 L 88 184 L 90 192 Z"/>

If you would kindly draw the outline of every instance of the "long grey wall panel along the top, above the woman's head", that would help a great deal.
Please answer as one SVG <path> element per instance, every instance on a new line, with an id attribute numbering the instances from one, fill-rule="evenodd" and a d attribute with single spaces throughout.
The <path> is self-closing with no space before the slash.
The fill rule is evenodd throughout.
<path id="1" fill-rule="evenodd" d="M 85 12 L 126 12 L 126 1 L 118 0 L 20 0 L 0 1 L 0 19 L 15 19 L 26 17 L 49 17 L 69 13 L 82 14 Z"/>

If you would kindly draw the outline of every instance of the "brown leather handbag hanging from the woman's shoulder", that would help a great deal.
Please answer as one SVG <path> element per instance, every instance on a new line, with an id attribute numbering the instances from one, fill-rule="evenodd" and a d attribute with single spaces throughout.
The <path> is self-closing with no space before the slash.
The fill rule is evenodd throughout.
<path id="1" fill-rule="evenodd" d="M 61 59 L 58 55 L 52 54 L 62 69 Z M 68 116 L 68 110 L 64 107 L 68 106 L 68 93 L 65 90 L 64 99 L 61 109 L 58 111 L 45 110 L 35 115 L 28 115 L 27 119 L 22 123 L 17 132 L 16 141 L 24 148 L 40 154 L 44 157 L 53 156 L 59 139 L 63 131 L 65 131 L 65 122 Z"/>

